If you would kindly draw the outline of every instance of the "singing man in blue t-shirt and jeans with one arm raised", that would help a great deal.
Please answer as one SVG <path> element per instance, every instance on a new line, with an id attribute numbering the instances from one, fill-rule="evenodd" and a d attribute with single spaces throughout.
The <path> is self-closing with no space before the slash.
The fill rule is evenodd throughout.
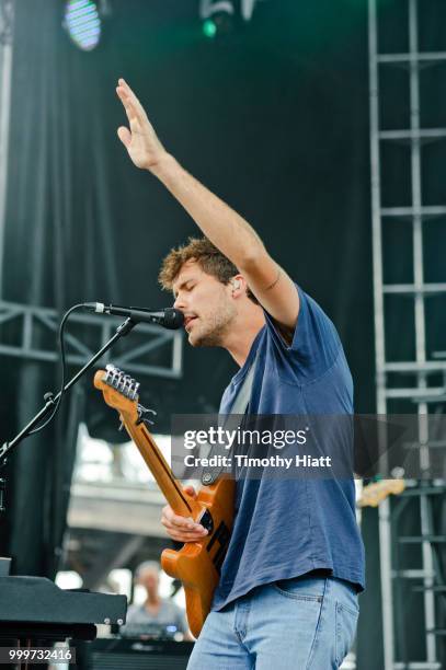
<path id="1" fill-rule="evenodd" d="M 240 366 L 220 412 L 230 412 L 255 360 L 250 414 L 353 414 L 352 379 L 331 321 L 249 223 L 165 151 L 123 79 L 116 91 L 129 122 L 117 132 L 130 159 L 205 235 L 172 251 L 160 279 L 184 313 L 190 344 L 224 347 Z M 162 523 L 180 542 L 206 534 L 170 507 Z M 363 589 L 353 480 L 239 480 L 220 582 L 188 668 L 339 668 Z"/>

